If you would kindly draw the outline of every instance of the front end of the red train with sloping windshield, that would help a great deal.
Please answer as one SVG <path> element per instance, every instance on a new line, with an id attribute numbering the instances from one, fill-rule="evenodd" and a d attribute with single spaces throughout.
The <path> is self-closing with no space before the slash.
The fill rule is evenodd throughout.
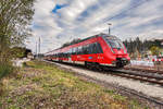
<path id="1" fill-rule="evenodd" d="M 124 44 L 115 36 L 105 36 L 104 40 L 111 52 L 106 52 L 111 63 L 117 68 L 123 68 L 130 62 L 127 49 Z"/>

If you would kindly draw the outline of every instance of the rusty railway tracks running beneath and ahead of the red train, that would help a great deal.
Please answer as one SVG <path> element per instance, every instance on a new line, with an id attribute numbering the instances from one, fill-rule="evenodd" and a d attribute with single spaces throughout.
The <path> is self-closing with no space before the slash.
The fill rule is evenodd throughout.
<path id="1" fill-rule="evenodd" d="M 62 62 L 62 63 L 75 65 L 77 68 L 83 68 L 88 70 L 88 68 L 86 68 L 85 65 L 66 63 L 66 62 Z M 143 71 L 136 71 L 136 70 L 133 71 L 126 69 L 116 70 L 113 68 L 104 68 L 104 66 L 102 66 L 101 69 L 90 68 L 89 70 L 163 86 L 163 73 L 153 73 L 149 71 L 145 72 L 145 70 Z"/>

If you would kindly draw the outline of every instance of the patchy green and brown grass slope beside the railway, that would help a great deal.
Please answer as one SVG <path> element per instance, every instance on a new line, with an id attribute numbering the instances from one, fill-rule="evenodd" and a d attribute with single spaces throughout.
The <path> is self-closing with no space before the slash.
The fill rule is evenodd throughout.
<path id="1" fill-rule="evenodd" d="M 40 61 L 27 62 L 15 76 L 4 78 L 3 85 L 0 109 L 146 109 L 136 100 Z"/>

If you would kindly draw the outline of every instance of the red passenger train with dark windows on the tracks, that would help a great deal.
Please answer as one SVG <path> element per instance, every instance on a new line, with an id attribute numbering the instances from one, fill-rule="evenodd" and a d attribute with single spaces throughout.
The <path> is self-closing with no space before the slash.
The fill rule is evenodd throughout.
<path id="1" fill-rule="evenodd" d="M 46 60 L 82 63 L 86 66 L 123 68 L 130 61 L 124 44 L 116 36 L 106 34 L 88 37 L 77 44 L 47 52 L 45 56 Z"/>

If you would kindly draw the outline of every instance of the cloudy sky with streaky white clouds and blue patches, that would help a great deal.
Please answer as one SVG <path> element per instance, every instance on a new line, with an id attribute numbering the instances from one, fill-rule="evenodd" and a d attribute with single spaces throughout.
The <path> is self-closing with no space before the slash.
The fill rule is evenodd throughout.
<path id="1" fill-rule="evenodd" d="M 122 40 L 163 38 L 163 0 L 37 0 L 27 48 L 41 51 L 61 47 L 75 38 L 99 33 Z"/>

